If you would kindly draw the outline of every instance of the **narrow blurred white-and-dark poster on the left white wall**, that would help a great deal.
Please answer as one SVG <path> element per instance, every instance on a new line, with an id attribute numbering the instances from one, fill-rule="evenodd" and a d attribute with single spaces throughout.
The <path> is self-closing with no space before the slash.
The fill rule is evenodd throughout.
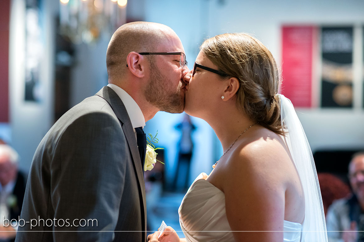
<path id="1" fill-rule="evenodd" d="M 25 101 L 40 102 L 40 66 L 44 55 L 42 0 L 26 0 L 25 9 Z"/>

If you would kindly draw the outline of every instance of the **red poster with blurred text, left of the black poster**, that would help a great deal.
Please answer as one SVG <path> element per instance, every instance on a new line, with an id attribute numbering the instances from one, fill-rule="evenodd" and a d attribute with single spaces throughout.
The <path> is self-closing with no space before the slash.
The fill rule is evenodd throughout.
<path id="1" fill-rule="evenodd" d="M 312 62 L 316 26 L 282 26 L 280 93 L 295 107 L 312 107 Z"/>

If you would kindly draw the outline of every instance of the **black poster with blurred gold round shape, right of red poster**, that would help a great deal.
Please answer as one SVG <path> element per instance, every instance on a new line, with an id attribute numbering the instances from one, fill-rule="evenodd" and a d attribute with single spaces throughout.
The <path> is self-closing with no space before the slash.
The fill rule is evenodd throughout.
<path id="1" fill-rule="evenodd" d="M 321 107 L 353 107 L 353 27 L 323 27 L 321 57 Z"/>

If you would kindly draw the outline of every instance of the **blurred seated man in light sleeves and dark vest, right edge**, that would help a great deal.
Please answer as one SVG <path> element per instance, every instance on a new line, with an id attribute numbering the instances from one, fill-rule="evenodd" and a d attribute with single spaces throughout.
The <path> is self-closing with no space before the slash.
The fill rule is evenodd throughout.
<path id="1" fill-rule="evenodd" d="M 336 200 L 327 212 L 329 242 L 364 241 L 364 152 L 353 155 L 348 176 L 353 195 Z"/>

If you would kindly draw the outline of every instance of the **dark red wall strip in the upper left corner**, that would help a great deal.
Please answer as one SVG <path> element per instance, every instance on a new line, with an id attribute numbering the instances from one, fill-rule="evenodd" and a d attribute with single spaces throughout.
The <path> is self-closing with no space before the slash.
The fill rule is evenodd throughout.
<path id="1" fill-rule="evenodd" d="M 10 1 L 0 8 L 0 122 L 9 122 L 9 16 Z"/>

